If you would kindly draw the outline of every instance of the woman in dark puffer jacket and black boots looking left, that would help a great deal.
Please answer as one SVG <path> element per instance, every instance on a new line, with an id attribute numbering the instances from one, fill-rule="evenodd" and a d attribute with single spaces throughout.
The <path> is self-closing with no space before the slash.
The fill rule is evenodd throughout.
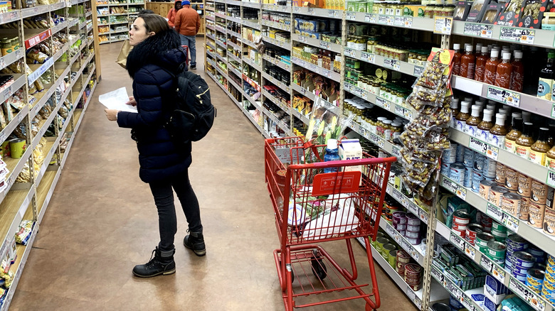
<path id="1" fill-rule="evenodd" d="M 184 246 L 197 256 L 206 254 L 202 235 L 199 202 L 189 182 L 191 145 L 178 150 L 164 128 L 173 106 L 176 73 L 186 65 L 186 52 L 181 48 L 179 34 L 169 28 L 165 18 L 144 14 L 135 19 L 129 31 L 133 50 L 127 57 L 127 71 L 133 79 L 133 97 L 127 104 L 137 106 L 137 113 L 106 109 L 110 121 L 132 129 L 132 138 L 139 150 L 139 176 L 147 182 L 158 209 L 160 242 L 154 257 L 133 268 L 134 275 L 147 278 L 175 273 L 174 236 L 177 231 L 174 206 L 175 190 L 189 222 Z M 173 188 L 173 190 L 172 190 Z"/>

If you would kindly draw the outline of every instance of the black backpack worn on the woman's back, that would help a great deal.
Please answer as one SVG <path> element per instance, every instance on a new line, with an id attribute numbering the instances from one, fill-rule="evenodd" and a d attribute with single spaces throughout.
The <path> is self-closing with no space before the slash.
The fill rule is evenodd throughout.
<path id="1" fill-rule="evenodd" d="M 175 107 L 166 129 L 177 146 L 184 146 L 206 136 L 216 118 L 216 108 L 212 105 L 208 84 L 201 76 L 180 67 L 174 77 L 177 80 Z"/>

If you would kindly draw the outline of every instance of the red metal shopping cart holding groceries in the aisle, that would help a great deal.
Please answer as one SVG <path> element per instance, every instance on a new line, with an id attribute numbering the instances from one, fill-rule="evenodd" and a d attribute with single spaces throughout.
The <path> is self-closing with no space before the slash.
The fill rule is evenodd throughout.
<path id="1" fill-rule="evenodd" d="M 363 154 L 358 160 L 322 162 L 325 148 L 305 143 L 302 137 L 265 141 L 265 180 L 280 239 L 274 258 L 285 310 L 357 298 L 366 300 L 366 310 L 375 310 L 380 298 L 369 238 L 376 239 L 389 170 L 396 158 Z M 336 172 L 324 173 L 324 168 Z M 353 238 L 364 239 L 366 245 L 369 294 L 362 289 L 369 284 L 354 282 L 358 273 Z M 347 242 L 351 272 L 315 244 L 339 239 Z M 340 291 L 348 295 L 337 294 L 326 301 L 309 298 Z"/>

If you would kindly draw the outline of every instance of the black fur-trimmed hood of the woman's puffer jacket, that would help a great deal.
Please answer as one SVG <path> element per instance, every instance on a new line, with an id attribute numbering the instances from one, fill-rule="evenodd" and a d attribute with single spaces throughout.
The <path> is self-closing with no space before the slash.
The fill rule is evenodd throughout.
<path id="1" fill-rule="evenodd" d="M 148 64 L 176 72 L 179 65 L 186 60 L 187 55 L 181 48 L 179 33 L 170 29 L 146 38 L 136 45 L 127 55 L 127 72 L 134 78 L 137 71 Z"/>

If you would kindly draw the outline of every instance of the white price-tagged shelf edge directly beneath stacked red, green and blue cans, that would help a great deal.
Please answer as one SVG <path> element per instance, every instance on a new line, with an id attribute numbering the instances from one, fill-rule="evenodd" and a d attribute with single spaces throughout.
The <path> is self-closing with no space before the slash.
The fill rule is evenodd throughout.
<path id="1" fill-rule="evenodd" d="M 527 288 L 524 283 L 514 278 L 511 273 L 505 271 L 502 266 L 490 260 L 484 253 L 480 252 L 479 247 L 471 245 L 437 219 L 435 221 L 435 231 L 438 231 L 438 234 L 450 241 L 451 244 L 465 253 L 467 257 L 481 266 L 487 273 L 490 273 L 490 275 L 499 280 L 499 282 L 513 290 L 522 300 L 528 301 L 531 307 L 534 307 L 536 310 L 552 310 L 549 302 L 541 298 L 541 295 L 537 295 L 533 290 L 527 290 L 527 294 L 524 294 L 522 290 L 519 290 L 519 288 Z"/>

